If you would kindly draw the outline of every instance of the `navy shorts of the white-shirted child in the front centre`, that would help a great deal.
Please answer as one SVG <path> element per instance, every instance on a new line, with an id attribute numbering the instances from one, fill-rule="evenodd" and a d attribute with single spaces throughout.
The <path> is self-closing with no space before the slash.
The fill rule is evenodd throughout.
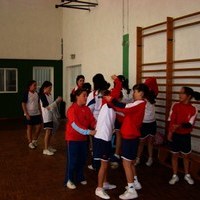
<path id="1" fill-rule="evenodd" d="M 94 160 L 108 161 L 111 157 L 112 145 L 111 141 L 93 139 L 93 158 Z"/>

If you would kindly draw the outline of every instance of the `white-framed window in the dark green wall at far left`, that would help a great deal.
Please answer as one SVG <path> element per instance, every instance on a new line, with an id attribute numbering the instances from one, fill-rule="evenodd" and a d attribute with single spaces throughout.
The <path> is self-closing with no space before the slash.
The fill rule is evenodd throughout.
<path id="1" fill-rule="evenodd" d="M 13 93 L 17 90 L 17 69 L 0 68 L 0 93 Z"/>

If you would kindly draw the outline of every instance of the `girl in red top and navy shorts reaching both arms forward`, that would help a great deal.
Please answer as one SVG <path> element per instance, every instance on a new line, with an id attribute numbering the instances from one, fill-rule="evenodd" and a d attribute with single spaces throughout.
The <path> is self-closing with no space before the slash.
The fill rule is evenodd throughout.
<path id="1" fill-rule="evenodd" d="M 115 110 L 124 113 L 124 120 L 120 129 L 122 136 L 122 154 L 123 167 L 126 174 L 128 186 L 126 191 L 119 196 L 120 199 L 134 199 L 138 197 L 135 190 L 135 184 L 139 184 L 135 173 L 135 158 L 140 137 L 140 128 L 142 125 L 148 87 L 145 84 L 137 84 L 133 87 L 134 102 L 127 105 L 117 103 L 114 100 Z M 122 106 L 124 108 L 116 107 Z"/>

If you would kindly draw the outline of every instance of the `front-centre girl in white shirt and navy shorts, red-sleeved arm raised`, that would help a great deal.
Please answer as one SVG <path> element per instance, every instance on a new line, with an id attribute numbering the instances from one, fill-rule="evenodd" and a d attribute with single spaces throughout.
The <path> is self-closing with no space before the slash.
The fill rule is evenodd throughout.
<path id="1" fill-rule="evenodd" d="M 103 96 L 118 98 L 121 91 L 121 82 L 116 75 L 112 76 L 115 87 L 109 91 L 103 92 Z M 96 134 L 93 140 L 93 158 L 100 161 L 100 169 L 98 172 L 98 187 L 95 194 L 103 199 L 109 199 L 110 196 L 104 190 L 116 188 L 107 182 L 108 160 L 112 152 L 111 139 L 114 130 L 114 122 L 116 118 L 115 111 L 102 99 L 102 107 L 97 119 Z"/>

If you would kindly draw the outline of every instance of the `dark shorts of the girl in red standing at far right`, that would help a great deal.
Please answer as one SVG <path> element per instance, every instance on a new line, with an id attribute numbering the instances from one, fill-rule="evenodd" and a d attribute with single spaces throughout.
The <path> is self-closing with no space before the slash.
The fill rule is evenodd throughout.
<path id="1" fill-rule="evenodd" d="M 172 153 L 188 154 L 191 152 L 191 135 L 173 133 L 172 142 L 170 142 L 170 149 Z"/>

